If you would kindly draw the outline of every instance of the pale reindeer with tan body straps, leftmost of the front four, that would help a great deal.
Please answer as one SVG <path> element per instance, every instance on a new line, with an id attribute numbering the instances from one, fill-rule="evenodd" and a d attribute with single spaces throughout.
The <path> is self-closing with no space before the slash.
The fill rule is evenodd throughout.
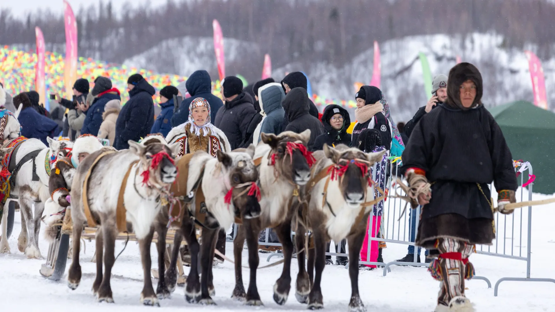
<path id="1" fill-rule="evenodd" d="M 73 177 L 71 198 L 73 219 L 73 262 L 68 271 L 68 286 L 76 289 L 81 280 L 79 241 L 82 224 L 99 224 L 96 233 L 97 275 L 93 293 L 98 301 L 113 302 L 110 276 L 114 265 L 114 245 L 118 230 L 125 227 L 125 220 L 133 226 L 139 241 L 143 264 L 144 286 L 140 302 L 158 305 L 150 279 L 150 243 L 153 222 L 160 212 L 162 202 L 169 198 L 169 186 L 177 170 L 170 157 L 170 148 L 161 143 L 146 146 L 129 140 L 129 149 L 120 152 L 98 150 L 85 158 Z M 106 183 L 109 177 L 110 183 Z M 88 178 L 88 180 L 87 180 Z M 85 188 L 85 180 L 88 185 Z M 114 185 L 122 187 L 114 188 Z M 84 200 L 85 197 L 87 200 Z M 88 205 L 88 212 L 85 204 Z M 119 208 L 118 208 L 119 207 Z M 117 218 L 124 208 L 125 218 Z M 90 213 L 87 219 L 85 214 Z M 116 224 L 118 223 L 118 224 Z M 104 274 L 102 272 L 104 256 Z"/>

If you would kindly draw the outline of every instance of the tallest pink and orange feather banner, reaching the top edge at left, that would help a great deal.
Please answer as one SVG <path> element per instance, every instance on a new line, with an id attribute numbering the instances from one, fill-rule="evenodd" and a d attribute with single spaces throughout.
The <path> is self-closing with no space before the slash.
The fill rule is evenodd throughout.
<path id="1" fill-rule="evenodd" d="M 69 3 L 64 0 L 65 26 L 65 64 L 64 85 L 65 96 L 72 98 L 73 83 L 77 80 L 77 22 Z"/>

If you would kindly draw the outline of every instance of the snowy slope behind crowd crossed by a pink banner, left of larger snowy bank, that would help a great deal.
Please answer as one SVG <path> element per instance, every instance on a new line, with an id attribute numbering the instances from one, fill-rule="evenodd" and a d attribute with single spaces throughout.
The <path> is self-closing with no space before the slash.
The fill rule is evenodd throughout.
<path id="1" fill-rule="evenodd" d="M 233 61 L 260 54 L 257 44 L 224 38 L 226 74 L 241 74 L 230 71 Z M 123 64 L 129 67 L 148 68 L 159 73 L 174 73 L 189 76 L 197 69 L 206 69 L 215 80 L 218 73 L 214 56 L 212 37 L 190 37 L 169 39 L 144 53 L 126 59 Z"/>

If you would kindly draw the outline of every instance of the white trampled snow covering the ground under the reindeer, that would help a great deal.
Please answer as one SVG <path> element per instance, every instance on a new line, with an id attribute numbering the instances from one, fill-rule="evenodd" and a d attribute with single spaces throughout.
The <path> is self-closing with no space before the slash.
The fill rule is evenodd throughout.
<path id="1" fill-rule="evenodd" d="M 534 194 L 533 199 L 547 198 L 545 195 Z M 77 290 L 70 290 L 64 278 L 59 282 L 44 279 L 39 268 L 44 260 L 28 260 L 17 250 L 17 236 L 21 229 L 17 213 L 14 231 L 9 238 L 12 254 L 0 254 L 0 298 L 2 311 L 64 311 L 76 309 L 79 312 L 98 311 L 147 311 L 155 309 L 139 303 L 142 290 L 142 269 L 140 268 L 138 245 L 130 242 L 123 254 L 116 261 L 112 275 L 112 290 L 115 304 L 97 303 L 90 288 L 93 284 L 95 265 L 89 262 L 94 253 L 94 241 L 86 243 L 86 252 L 82 250 L 83 278 Z M 536 207 L 532 218 L 532 277 L 555 278 L 555 204 Z M 523 244 L 525 244 L 523 242 Z M 385 261 L 401 258 L 406 254 L 406 245 L 387 244 L 384 250 Z M 48 245 L 43 240 L 40 244 L 42 254 L 46 254 Z M 226 246 L 231 254 L 233 246 Z M 123 248 L 123 242 L 116 245 L 116 253 Z M 155 246 L 152 246 L 155 254 Z M 246 250 L 243 253 L 246 258 Z M 267 254 L 260 254 L 261 265 L 266 263 Z M 156 260 L 153 255 L 153 265 Z M 245 259 L 244 258 L 244 259 Z M 277 261 L 274 257 L 271 261 Z M 66 267 L 69 267 L 68 265 Z M 525 277 L 526 263 L 519 260 L 497 258 L 475 254 L 471 256 L 478 275 L 486 276 L 492 284 L 502 277 Z M 244 261 L 246 263 L 246 260 Z M 297 265 L 294 259 L 292 278 L 295 279 Z M 188 272 L 188 268 L 185 268 Z M 171 299 L 160 302 L 165 311 L 297 311 L 305 310 L 306 306 L 295 300 L 294 289 L 284 306 L 279 306 L 272 299 L 273 285 L 279 278 L 281 266 L 261 269 L 258 273 L 258 288 L 263 308 L 243 306 L 230 299 L 234 288 L 233 265 L 224 263 L 214 269 L 214 300 L 218 306 L 199 306 L 186 303 L 183 299 L 183 288 L 178 287 Z M 248 270 L 244 269 L 245 282 L 248 281 Z M 379 312 L 430 312 L 435 308 L 438 283 L 434 281 L 425 268 L 392 266 L 391 273 L 382 276 L 382 270 L 361 271 L 361 298 L 369 311 Z M 294 281 L 291 283 L 294 287 Z M 245 285 L 246 286 L 246 285 Z M 471 280 L 466 284 L 466 294 L 476 304 L 477 311 L 554 311 L 555 284 L 536 282 L 503 282 L 499 287 L 499 296 L 493 296 L 493 288 L 488 289 L 485 281 Z M 327 311 L 346 311 L 350 299 L 350 280 L 346 269 L 341 266 L 327 265 L 322 277 L 322 293 Z"/>

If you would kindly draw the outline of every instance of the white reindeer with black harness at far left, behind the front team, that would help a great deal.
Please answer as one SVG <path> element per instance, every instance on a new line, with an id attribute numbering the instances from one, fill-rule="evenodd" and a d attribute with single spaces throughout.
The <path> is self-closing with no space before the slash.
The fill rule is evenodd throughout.
<path id="1" fill-rule="evenodd" d="M 67 140 L 56 141 L 51 138 L 47 140 L 49 147 L 46 147 L 41 140 L 25 139 L 12 150 L 9 160 L 8 169 L 11 173 L 10 183 L 12 183 L 10 199 L 18 199 L 21 207 L 18 249 L 24 252 L 27 258 L 42 258 L 38 238 L 44 203 L 51 196 L 48 191 L 49 174 L 56 159 L 66 157 L 73 147 L 73 143 Z M 11 142 L 12 140 L 4 142 L 3 146 L 7 147 Z M 6 237 L 6 233 L 2 234 L 2 238 Z M 4 246 L 3 243 L 0 245 Z M 9 253 L 9 247 L 4 246 L 2 249 Z"/>

